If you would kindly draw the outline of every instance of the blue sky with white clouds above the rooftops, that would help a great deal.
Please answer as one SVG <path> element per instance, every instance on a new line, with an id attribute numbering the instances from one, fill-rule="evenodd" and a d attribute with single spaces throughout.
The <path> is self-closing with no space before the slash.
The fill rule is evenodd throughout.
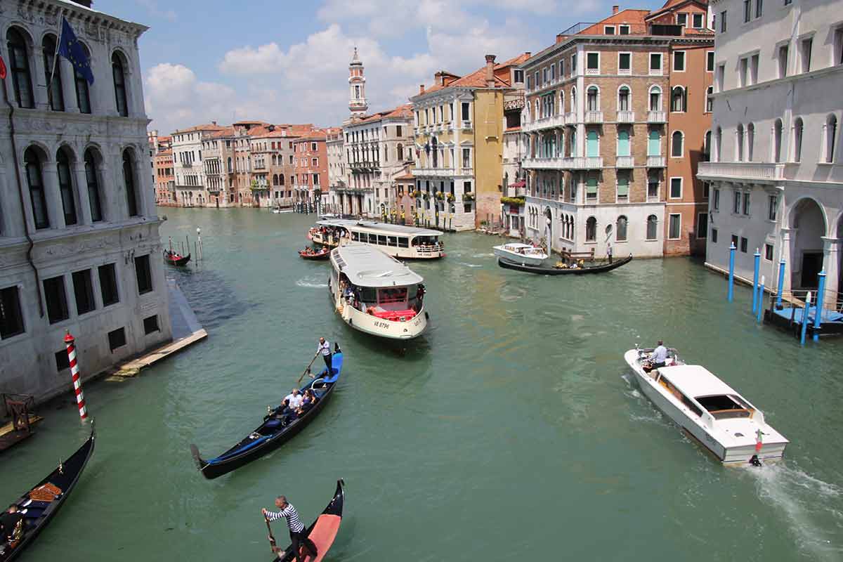
<path id="1" fill-rule="evenodd" d="M 615 0 L 618 2 L 618 0 Z M 94 0 L 147 25 L 139 41 L 151 129 L 234 120 L 339 126 L 354 47 L 369 112 L 407 103 L 419 84 L 553 44 L 611 13 L 611 0 Z M 642 0 L 623 8 L 655 9 Z"/>

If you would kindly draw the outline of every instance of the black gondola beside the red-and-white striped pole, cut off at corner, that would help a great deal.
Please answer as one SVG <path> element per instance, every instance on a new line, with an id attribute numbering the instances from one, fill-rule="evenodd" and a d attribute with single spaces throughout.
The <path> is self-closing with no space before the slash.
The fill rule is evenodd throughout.
<path id="1" fill-rule="evenodd" d="M 62 507 L 67 495 L 76 485 L 88 459 L 94 452 L 94 422 L 91 422 L 91 435 L 88 440 L 64 462 L 59 462 L 46 479 L 41 480 L 31 490 L 14 501 L 24 518 L 13 531 L 11 542 L 0 542 L 0 562 L 13 560 L 35 540 L 47 523 Z M 7 507 L 3 504 L 3 509 Z M 15 540 L 17 538 L 17 540 Z M 0 539 L 2 541 L 2 539 Z"/>

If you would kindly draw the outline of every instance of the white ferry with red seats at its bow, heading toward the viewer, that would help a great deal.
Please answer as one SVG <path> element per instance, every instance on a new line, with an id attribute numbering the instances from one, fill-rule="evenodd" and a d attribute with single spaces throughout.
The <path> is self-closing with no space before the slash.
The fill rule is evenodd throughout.
<path id="1" fill-rule="evenodd" d="M 328 291 L 343 322 L 392 340 L 411 340 L 427 329 L 424 281 L 406 265 L 367 244 L 330 252 Z"/>

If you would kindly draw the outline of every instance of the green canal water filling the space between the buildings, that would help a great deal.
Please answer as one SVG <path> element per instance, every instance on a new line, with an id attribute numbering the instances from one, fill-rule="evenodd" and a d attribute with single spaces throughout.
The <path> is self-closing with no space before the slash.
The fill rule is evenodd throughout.
<path id="1" fill-rule="evenodd" d="M 446 259 L 411 264 L 432 327 L 401 353 L 331 312 L 329 265 L 295 254 L 313 216 L 161 212 L 165 244 L 202 229 L 204 260 L 169 275 L 210 335 L 136 379 L 86 385 L 94 457 L 23 560 L 268 562 L 260 508 L 286 494 L 310 521 L 338 478 L 333 561 L 843 559 L 843 342 L 801 349 L 754 324 L 749 290 L 729 306 L 700 262 L 529 276 L 497 267 L 498 238 L 448 235 Z M 189 445 L 211 457 L 254 428 L 319 335 L 346 353 L 319 418 L 203 479 Z M 658 338 L 765 409 L 787 459 L 723 468 L 680 434 L 622 357 Z M 69 400 L 42 413 L 0 459 L 9 500 L 83 442 Z"/>

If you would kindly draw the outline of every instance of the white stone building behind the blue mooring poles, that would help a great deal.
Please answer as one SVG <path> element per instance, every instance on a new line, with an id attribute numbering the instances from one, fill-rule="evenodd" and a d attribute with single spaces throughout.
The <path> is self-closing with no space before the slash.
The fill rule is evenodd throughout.
<path id="1" fill-rule="evenodd" d="M 838 298 L 843 237 L 843 2 L 714 0 L 716 72 L 706 265 Z"/>

